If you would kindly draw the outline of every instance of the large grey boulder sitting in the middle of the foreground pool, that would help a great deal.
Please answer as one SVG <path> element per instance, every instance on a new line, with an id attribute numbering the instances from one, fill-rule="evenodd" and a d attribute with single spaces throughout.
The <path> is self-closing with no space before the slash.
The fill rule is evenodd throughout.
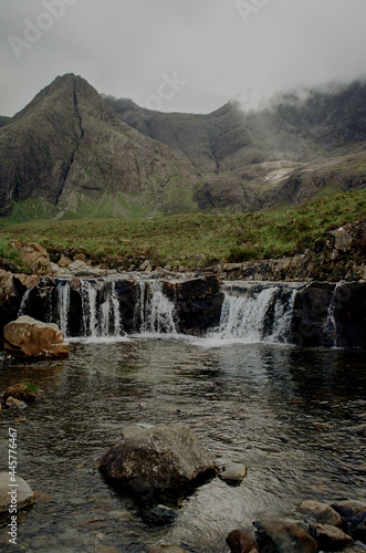
<path id="1" fill-rule="evenodd" d="M 218 472 L 215 457 L 185 425 L 135 425 L 103 457 L 100 470 L 122 487 L 169 490 Z"/>

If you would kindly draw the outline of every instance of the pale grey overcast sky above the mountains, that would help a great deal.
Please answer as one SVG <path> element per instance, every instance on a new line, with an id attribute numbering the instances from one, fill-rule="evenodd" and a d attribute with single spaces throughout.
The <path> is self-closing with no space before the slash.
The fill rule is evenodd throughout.
<path id="1" fill-rule="evenodd" d="M 366 75 L 366 0 L 0 0 L 0 114 L 57 75 L 165 112 Z"/>

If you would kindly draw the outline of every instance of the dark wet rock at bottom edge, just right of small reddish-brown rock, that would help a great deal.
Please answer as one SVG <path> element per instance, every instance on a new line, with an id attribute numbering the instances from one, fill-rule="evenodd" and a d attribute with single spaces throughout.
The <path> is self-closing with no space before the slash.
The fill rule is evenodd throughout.
<path id="1" fill-rule="evenodd" d="M 253 524 L 260 551 L 264 547 L 271 547 L 268 549 L 271 553 L 317 552 L 316 541 L 292 521 L 273 520 L 254 522 Z"/>

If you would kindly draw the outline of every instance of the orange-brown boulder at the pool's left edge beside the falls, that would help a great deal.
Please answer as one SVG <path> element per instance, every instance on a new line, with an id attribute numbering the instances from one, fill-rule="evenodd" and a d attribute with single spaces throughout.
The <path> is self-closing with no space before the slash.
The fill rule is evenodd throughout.
<path id="1" fill-rule="evenodd" d="M 66 357 L 70 346 L 56 324 L 22 315 L 3 330 L 4 348 L 15 357 Z"/>

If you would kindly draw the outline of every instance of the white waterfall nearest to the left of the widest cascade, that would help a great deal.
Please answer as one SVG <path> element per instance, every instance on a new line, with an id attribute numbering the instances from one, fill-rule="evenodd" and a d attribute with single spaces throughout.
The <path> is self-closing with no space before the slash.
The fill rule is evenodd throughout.
<path id="1" fill-rule="evenodd" d="M 164 294 L 161 282 L 140 280 L 138 289 L 136 319 L 139 332 L 177 334 L 175 304 Z"/>

